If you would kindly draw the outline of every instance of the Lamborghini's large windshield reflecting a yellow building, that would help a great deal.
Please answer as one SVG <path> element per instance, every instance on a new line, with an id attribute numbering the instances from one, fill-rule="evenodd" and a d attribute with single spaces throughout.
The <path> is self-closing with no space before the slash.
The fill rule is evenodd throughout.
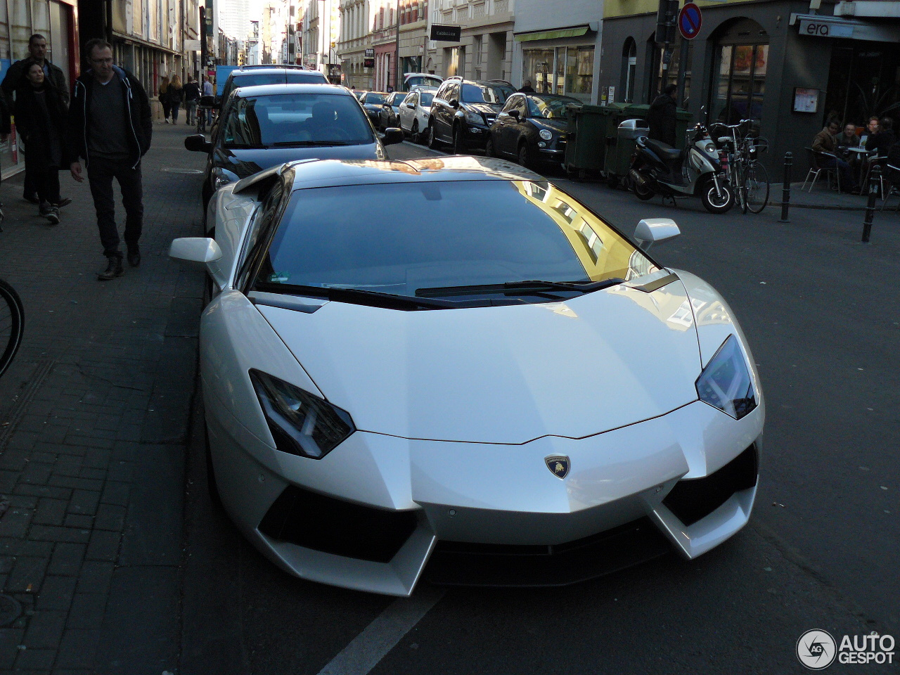
<path id="1" fill-rule="evenodd" d="M 372 209 L 380 202 L 404 206 Z M 298 190 L 256 281 L 267 290 L 286 284 L 415 297 L 479 284 L 627 280 L 656 269 L 551 184 L 459 181 Z"/>

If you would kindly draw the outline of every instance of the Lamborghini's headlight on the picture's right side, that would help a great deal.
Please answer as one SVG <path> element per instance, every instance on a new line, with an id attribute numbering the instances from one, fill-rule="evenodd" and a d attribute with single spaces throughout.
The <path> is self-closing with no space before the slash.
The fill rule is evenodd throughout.
<path id="1" fill-rule="evenodd" d="M 737 338 L 728 336 L 697 379 L 700 401 L 741 419 L 756 408 L 756 390 Z"/>

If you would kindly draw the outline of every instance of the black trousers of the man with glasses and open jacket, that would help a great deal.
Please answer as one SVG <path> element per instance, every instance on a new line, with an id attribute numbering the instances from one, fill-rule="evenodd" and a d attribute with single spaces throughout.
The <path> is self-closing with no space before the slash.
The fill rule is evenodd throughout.
<path id="1" fill-rule="evenodd" d="M 91 184 L 97 227 L 104 256 L 118 256 L 119 230 L 115 225 L 115 200 L 112 179 L 119 181 L 121 203 L 125 207 L 125 245 L 137 248 L 144 220 L 144 192 L 140 183 L 140 164 L 131 168 L 132 159 L 94 158 L 87 166 L 87 181 Z"/>

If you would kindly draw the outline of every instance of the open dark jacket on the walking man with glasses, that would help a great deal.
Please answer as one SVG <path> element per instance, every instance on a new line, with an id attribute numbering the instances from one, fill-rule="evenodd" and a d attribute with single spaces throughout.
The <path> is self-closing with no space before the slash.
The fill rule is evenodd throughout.
<path id="1" fill-rule="evenodd" d="M 129 148 L 130 159 L 134 166 L 138 166 L 140 157 L 143 157 L 150 148 L 150 139 L 153 136 L 153 116 L 150 112 L 150 103 L 147 92 L 140 85 L 138 78 L 131 75 L 124 68 L 113 66 L 113 77 L 119 77 L 124 83 L 122 87 L 125 96 L 125 110 L 129 115 Z M 87 130 L 90 111 L 87 102 L 96 85 L 94 70 L 88 70 L 75 81 L 72 90 L 72 105 L 68 109 L 68 160 L 74 162 L 78 157 L 85 157 L 85 166 L 91 158 L 87 155 Z"/>

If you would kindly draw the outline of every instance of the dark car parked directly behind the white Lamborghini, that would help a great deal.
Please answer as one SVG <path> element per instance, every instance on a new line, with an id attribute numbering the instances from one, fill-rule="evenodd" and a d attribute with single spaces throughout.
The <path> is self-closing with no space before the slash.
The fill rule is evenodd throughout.
<path id="1" fill-rule="evenodd" d="M 389 129 L 378 139 L 343 86 L 260 85 L 235 89 L 212 140 L 202 134 L 188 136 L 184 147 L 208 153 L 202 185 L 205 212 L 221 186 L 269 166 L 304 157 L 383 159 L 383 146 L 402 140 L 399 129 Z"/>

